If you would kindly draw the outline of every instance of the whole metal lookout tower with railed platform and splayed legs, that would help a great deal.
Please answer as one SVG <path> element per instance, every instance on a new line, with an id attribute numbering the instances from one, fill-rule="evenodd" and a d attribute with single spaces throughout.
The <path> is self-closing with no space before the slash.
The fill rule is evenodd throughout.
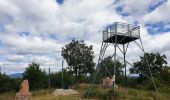
<path id="1" fill-rule="evenodd" d="M 139 40 L 139 43 L 137 42 L 137 40 Z M 112 77 L 113 80 L 113 89 L 114 89 L 114 93 L 115 93 L 115 84 L 116 84 L 116 61 L 117 59 L 122 59 L 123 60 L 123 65 L 125 68 L 125 83 L 126 83 L 126 87 L 127 87 L 127 68 L 126 65 L 129 64 L 130 66 L 133 66 L 131 63 L 129 63 L 126 60 L 126 52 L 128 49 L 128 46 L 131 42 L 134 42 L 141 50 L 143 53 L 145 53 L 143 44 L 142 44 L 142 40 L 140 37 L 140 26 L 137 25 L 131 25 L 131 24 L 126 24 L 126 23 L 120 23 L 120 22 L 115 22 L 111 25 L 109 25 L 108 27 L 106 27 L 106 29 L 103 31 L 103 39 L 102 39 L 102 46 L 101 46 L 101 50 L 100 50 L 100 55 L 99 55 L 99 59 L 98 59 L 98 64 L 101 63 L 101 61 L 103 60 L 103 57 L 105 55 L 106 49 L 109 46 L 113 46 L 114 47 L 114 52 L 112 54 L 112 58 L 114 59 L 114 74 L 110 75 L 110 77 Z M 119 57 L 117 55 L 117 52 L 120 51 L 123 54 L 123 58 Z M 146 62 L 147 62 L 147 58 L 145 58 Z M 96 66 L 96 72 L 93 76 L 93 80 L 92 80 L 92 84 L 90 87 L 90 91 L 93 87 L 93 84 L 96 80 L 96 76 L 98 75 L 98 73 L 100 73 L 100 68 L 98 67 L 98 64 Z M 148 70 L 150 75 L 147 75 L 147 78 L 150 78 L 153 82 L 154 88 L 157 91 L 155 82 L 154 82 L 154 78 L 152 76 L 151 70 L 150 70 L 150 66 L 148 64 L 148 62 L 146 63 L 148 65 Z M 106 69 L 106 71 L 109 73 L 109 69 Z M 88 92 L 90 92 L 88 91 Z"/>

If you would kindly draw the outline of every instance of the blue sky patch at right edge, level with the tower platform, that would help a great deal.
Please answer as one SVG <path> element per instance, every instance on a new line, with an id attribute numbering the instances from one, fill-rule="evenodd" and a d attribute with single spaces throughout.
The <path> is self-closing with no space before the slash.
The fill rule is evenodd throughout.
<path id="1" fill-rule="evenodd" d="M 163 33 L 163 32 L 170 32 L 170 23 L 165 22 L 157 22 L 153 24 L 146 24 L 147 31 L 149 34 L 157 34 L 157 33 Z"/>

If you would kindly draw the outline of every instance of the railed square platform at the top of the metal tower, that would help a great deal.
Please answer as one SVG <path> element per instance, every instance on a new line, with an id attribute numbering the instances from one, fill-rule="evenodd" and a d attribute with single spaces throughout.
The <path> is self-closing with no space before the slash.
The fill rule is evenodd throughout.
<path id="1" fill-rule="evenodd" d="M 140 27 L 131 24 L 118 23 L 108 26 L 103 31 L 103 42 L 126 44 L 140 38 Z"/>

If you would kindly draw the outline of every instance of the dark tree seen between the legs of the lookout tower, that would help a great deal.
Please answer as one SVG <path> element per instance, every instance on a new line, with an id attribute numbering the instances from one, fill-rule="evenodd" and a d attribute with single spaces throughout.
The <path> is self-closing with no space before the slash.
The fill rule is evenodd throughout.
<path id="1" fill-rule="evenodd" d="M 108 56 L 102 60 L 101 63 L 99 63 L 98 66 L 101 70 L 100 74 L 102 77 L 109 77 L 110 75 L 114 74 L 114 61 L 112 60 L 111 56 Z M 116 61 L 116 76 L 123 75 L 123 65 L 118 60 Z M 109 75 L 109 73 L 110 75 Z"/>

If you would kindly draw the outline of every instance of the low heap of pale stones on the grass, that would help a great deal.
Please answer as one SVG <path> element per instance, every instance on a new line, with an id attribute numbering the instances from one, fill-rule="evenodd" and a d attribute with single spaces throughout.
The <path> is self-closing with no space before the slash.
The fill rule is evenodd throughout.
<path id="1" fill-rule="evenodd" d="M 58 96 L 58 95 L 77 95 L 79 94 L 77 91 L 73 89 L 56 89 L 53 92 L 53 95 Z"/>

